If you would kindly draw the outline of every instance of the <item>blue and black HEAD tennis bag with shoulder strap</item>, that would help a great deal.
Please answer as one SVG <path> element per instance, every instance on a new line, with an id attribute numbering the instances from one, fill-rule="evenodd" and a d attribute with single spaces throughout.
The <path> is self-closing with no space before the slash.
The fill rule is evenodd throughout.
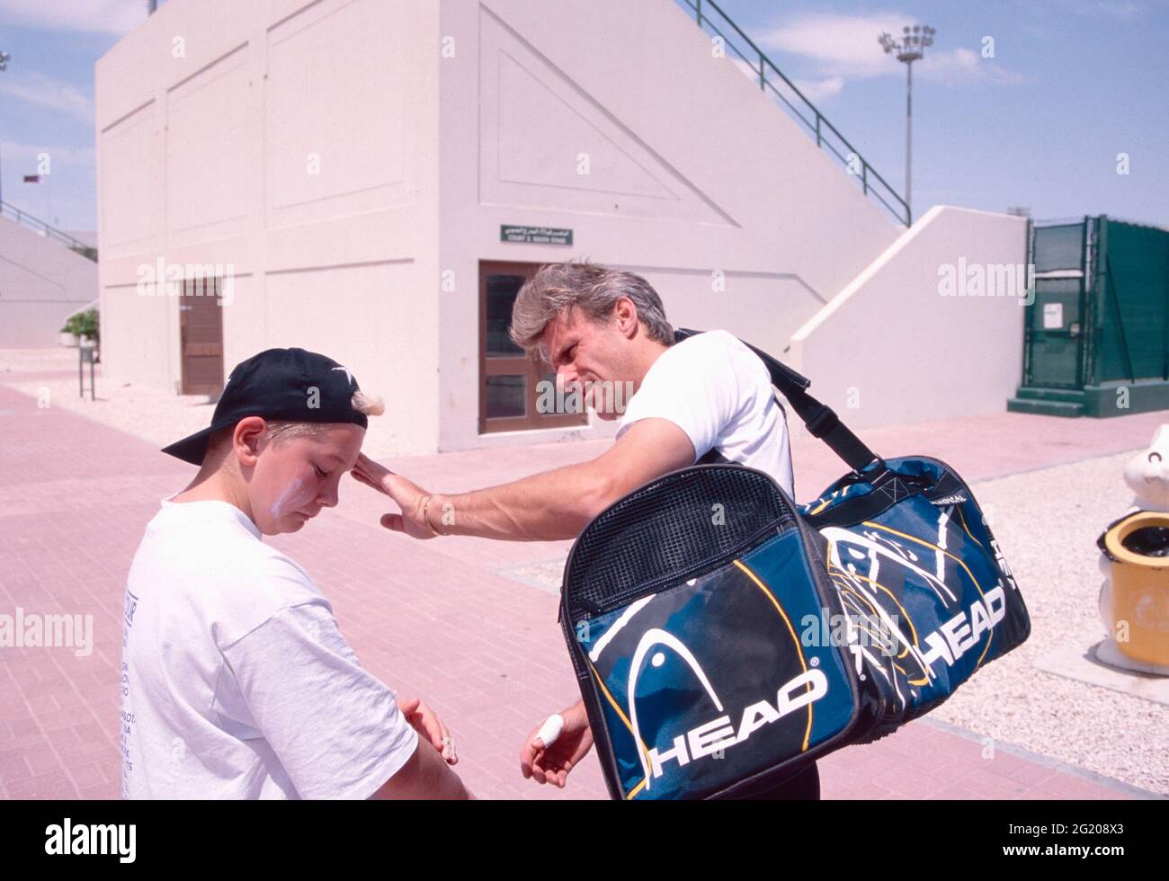
<path id="1" fill-rule="evenodd" d="M 755 792 L 928 713 L 1030 633 L 962 478 L 873 455 L 808 380 L 754 352 L 852 471 L 796 505 L 704 457 L 577 537 L 561 625 L 614 798 Z"/>

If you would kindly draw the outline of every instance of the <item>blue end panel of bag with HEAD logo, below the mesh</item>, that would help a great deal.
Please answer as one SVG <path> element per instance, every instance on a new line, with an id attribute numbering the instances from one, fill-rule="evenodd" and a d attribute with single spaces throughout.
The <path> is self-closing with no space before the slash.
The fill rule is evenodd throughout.
<path id="1" fill-rule="evenodd" d="M 798 537 L 773 543 L 794 550 Z M 732 560 L 589 618 L 593 639 L 577 646 L 623 798 L 715 791 L 760 754 L 798 756 L 848 720 L 844 664 L 830 647 L 802 646 L 793 620 L 811 606 L 784 605 L 749 561 Z"/>

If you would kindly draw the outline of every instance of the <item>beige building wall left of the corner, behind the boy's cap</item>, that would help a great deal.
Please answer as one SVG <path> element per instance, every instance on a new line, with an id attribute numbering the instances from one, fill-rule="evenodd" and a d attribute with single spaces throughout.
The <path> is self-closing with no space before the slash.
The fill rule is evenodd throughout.
<path id="1" fill-rule="evenodd" d="M 227 369 L 317 348 L 389 398 L 372 439 L 436 446 L 436 12 L 174 0 L 98 62 L 112 379 L 178 388 L 178 301 L 138 283 L 159 258 L 219 264 Z"/>

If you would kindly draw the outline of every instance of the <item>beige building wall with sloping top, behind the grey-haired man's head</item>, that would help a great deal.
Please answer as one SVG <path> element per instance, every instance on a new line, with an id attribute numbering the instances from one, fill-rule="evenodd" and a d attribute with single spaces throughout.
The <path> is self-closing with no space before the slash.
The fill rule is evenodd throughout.
<path id="1" fill-rule="evenodd" d="M 644 275 L 679 326 L 777 348 L 901 229 L 673 0 L 444 0 L 441 27 L 441 263 L 468 280 L 440 298 L 443 449 L 574 433 L 477 435 L 479 259 L 589 256 Z"/>

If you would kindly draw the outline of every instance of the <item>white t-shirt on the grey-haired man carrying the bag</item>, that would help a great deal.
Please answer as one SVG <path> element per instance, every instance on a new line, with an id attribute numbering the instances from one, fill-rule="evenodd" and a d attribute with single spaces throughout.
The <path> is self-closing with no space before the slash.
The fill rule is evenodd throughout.
<path id="1" fill-rule="evenodd" d="M 663 352 L 629 398 L 620 438 L 638 419 L 669 419 L 694 445 L 694 460 L 756 469 L 793 495 L 787 418 L 759 356 L 727 331 L 687 337 Z"/>

